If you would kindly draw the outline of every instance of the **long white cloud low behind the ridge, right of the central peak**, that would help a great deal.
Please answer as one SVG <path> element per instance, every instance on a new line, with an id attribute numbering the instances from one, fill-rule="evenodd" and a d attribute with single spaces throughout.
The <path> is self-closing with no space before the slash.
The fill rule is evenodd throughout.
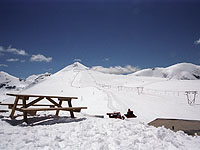
<path id="1" fill-rule="evenodd" d="M 108 74 L 128 74 L 128 73 L 133 73 L 140 70 L 138 67 L 134 67 L 131 65 L 127 65 L 125 67 L 115 66 L 115 67 L 109 67 L 109 68 L 105 68 L 102 66 L 94 66 L 91 69 L 94 71 L 99 71 L 99 72 L 108 73 Z"/>

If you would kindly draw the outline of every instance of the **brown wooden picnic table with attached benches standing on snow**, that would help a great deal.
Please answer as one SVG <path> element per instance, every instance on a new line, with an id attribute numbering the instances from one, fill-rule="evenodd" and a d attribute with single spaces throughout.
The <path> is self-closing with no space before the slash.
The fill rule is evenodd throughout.
<path id="1" fill-rule="evenodd" d="M 14 96 L 15 101 L 14 104 L 1 104 L 1 105 L 10 105 L 12 108 L 10 117 L 13 119 L 15 111 L 21 111 L 23 112 L 24 122 L 27 122 L 27 113 L 29 114 L 35 114 L 37 111 L 51 111 L 56 110 L 56 115 L 59 114 L 60 110 L 69 111 L 71 118 L 74 118 L 73 112 L 80 112 L 81 109 L 87 109 L 87 107 L 72 107 L 72 99 L 78 99 L 77 97 L 65 97 L 65 96 L 49 96 L 49 95 L 28 95 L 28 94 L 9 94 L 9 96 Z M 36 98 L 34 100 L 30 100 L 30 98 Z M 36 104 L 43 99 L 48 100 L 51 105 L 47 104 Z M 59 103 L 57 103 L 54 99 L 57 99 Z M 19 100 L 22 100 L 22 104 L 19 103 Z M 29 103 L 27 101 L 29 100 Z M 62 107 L 62 102 L 67 101 L 68 107 Z M 17 108 L 17 106 L 22 106 L 20 108 Z M 31 107 L 32 106 L 32 107 Z M 50 108 L 43 107 L 43 108 L 33 108 L 33 106 L 50 106 Z M 30 108 L 31 107 L 31 108 Z"/>

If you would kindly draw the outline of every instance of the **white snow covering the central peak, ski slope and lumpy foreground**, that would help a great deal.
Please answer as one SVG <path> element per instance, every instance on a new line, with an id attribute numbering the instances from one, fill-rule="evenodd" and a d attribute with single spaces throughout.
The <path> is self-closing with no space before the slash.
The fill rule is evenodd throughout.
<path id="1" fill-rule="evenodd" d="M 200 80 L 111 75 L 74 63 L 21 93 L 76 96 L 73 106 L 88 109 L 76 114 L 77 119 L 65 118 L 68 112 L 61 112 L 60 118 L 48 118 L 32 126 L 21 123 L 20 117 L 11 121 L 6 118 L 9 113 L 4 113 L 0 149 L 200 149 L 200 137 L 147 125 L 156 118 L 200 120 L 200 96 L 188 105 L 185 91 L 200 93 Z M 193 96 L 190 93 L 189 99 Z M 13 102 L 13 98 L 1 101 Z M 138 116 L 136 119 L 106 116 L 113 111 L 124 114 L 128 108 Z M 54 113 L 38 114 L 45 117 Z M 91 117 L 94 115 L 105 118 Z"/>

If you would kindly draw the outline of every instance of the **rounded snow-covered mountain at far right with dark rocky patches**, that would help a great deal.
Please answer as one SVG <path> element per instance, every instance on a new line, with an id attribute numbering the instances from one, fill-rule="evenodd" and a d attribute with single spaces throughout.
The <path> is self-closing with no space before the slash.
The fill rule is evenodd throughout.
<path id="1" fill-rule="evenodd" d="M 200 66 L 191 63 L 179 63 L 167 68 L 143 69 L 132 75 L 178 80 L 197 80 L 200 79 Z"/>

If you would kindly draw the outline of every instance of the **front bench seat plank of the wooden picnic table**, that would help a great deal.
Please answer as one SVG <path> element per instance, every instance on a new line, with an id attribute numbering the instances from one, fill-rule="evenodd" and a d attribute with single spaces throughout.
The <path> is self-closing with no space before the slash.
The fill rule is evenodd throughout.
<path id="1" fill-rule="evenodd" d="M 65 111 L 79 111 L 87 109 L 87 107 L 55 107 L 55 108 L 20 108 L 21 111 L 51 111 L 51 110 L 65 110 Z"/>

